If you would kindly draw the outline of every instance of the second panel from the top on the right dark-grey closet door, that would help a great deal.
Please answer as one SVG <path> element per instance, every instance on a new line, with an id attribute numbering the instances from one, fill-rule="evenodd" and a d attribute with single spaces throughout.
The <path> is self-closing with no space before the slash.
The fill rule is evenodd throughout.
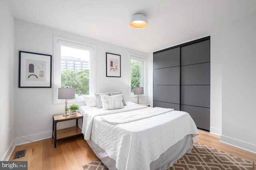
<path id="1" fill-rule="evenodd" d="M 210 85 L 210 63 L 181 66 L 182 85 Z"/>

